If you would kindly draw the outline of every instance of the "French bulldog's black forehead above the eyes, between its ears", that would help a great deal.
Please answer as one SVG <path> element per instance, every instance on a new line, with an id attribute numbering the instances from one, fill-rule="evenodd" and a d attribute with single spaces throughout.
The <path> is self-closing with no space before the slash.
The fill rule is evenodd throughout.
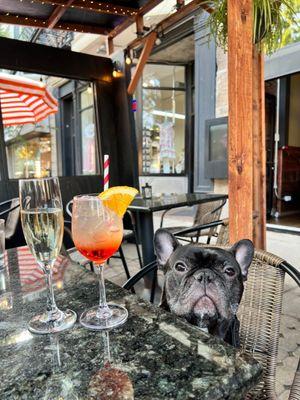
<path id="1" fill-rule="evenodd" d="M 167 267 L 172 267 L 178 261 L 184 262 L 190 268 L 214 268 L 224 265 L 239 267 L 230 252 L 222 249 L 207 249 L 196 245 L 177 247 L 171 254 Z"/>

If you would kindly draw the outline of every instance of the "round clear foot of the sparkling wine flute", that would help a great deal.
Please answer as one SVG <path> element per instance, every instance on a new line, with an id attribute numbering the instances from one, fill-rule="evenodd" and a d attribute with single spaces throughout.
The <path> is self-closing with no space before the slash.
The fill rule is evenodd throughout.
<path id="1" fill-rule="evenodd" d="M 72 328 L 77 320 L 75 311 L 58 311 L 55 319 L 49 319 L 47 312 L 36 315 L 28 323 L 28 330 L 31 333 L 46 335 L 47 333 L 57 333 Z"/>

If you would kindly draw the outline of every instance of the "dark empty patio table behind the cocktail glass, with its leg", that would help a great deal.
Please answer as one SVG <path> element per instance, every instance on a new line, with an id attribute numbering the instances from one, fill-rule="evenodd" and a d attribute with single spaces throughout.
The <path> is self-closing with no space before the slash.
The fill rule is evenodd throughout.
<path id="1" fill-rule="evenodd" d="M 156 211 L 171 210 L 172 208 L 193 206 L 201 203 L 209 203 L 215 200 L 225 200 L 226 194 L 215 193 L 185 193 L 161 195 L 152 199 L 136 197 L 128 209 L 138 213 L 140 223 L 140 239 L 143 251 L 143 263 L 149 264 L 155 260 L 153 247 L 153 213 Z"/>

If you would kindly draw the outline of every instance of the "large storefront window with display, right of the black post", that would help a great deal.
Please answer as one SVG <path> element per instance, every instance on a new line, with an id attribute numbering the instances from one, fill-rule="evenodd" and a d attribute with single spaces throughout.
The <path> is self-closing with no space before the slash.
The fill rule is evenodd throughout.
<path id="1" fill-rule="evenodd" d="M 143 75 L 142 173 L 185 172 L 185 68 L 147 65 Z"/>

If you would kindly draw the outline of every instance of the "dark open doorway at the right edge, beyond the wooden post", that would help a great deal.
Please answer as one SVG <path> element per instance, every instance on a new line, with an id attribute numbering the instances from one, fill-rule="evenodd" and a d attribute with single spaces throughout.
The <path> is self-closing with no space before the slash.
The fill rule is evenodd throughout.
<path id="1" fill-rule="evenodd" d="M 278 113 L 278 132 L 276 115 Z M 268 228 L 300 228 L 300 74 L 266 82 Z M 275 229 L 274 228 L 274 229 Z"/>

